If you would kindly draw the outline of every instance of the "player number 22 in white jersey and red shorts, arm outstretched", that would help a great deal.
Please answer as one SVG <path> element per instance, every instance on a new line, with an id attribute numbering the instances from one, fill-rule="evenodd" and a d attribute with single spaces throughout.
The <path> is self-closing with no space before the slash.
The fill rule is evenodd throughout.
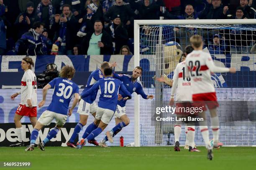
<path id="1" fill-rule="evenodd" d="M 205 141 L 206 148 L 208 150 L 207 158 L 212 160 L 212 147 L 209 140 L 209 131 L 207 128 L 207 121 L 205 119 L 205 103 L 209 108 L 211 115 L 211 128 L 213 134 L 213 148 L 218 148 L 223 145 L 218 142 L 219 139 L 219 119 L 216 112 L 216 108 L 219 106 L 217 102 L 215 88 L 211 80 L 211 72 L 231 72 L 235 73 L 235 68 L 223 68 L 217 67 L 212 61 L 210 54 L 203 52 L 203 41 L 200 35 L 193 35 L 190 37 L 190 43 L 194 48 L 194 51 L 187 55 L 185 75 L 191 77 L 191 89 L 192 100 L 195 102 L 196 107 L 202 107 L 203 112 L 199 113 L 199 116 L 203 117 L 205 121 L 200 122 L 200 129 L 202 137 Z M 200 102 L 201 101 L 201 102 Z"/>

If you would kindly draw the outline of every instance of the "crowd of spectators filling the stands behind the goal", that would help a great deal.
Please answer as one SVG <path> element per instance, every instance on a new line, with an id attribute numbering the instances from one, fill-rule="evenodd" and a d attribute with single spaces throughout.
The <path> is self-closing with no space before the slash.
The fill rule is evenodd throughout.
<path id="1" fill-rule="evenodd" d="M 133 20 L 251 19 L 255 9 L 256 0 L 0 0 L 0 55 L 132 54 Z M 253 34 L 235 38 L 252 47 Z M 227 51 L 222 38 L 212 33 L 210 52 Z"/>

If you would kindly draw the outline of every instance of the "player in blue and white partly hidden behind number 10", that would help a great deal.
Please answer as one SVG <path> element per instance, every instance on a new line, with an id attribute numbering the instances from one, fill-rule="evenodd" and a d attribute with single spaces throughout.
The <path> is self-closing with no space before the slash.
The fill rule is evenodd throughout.
<path id="1" fill-rule="evenodd" d="M 110 66 L 115 66 L 115 64 L 113 63 L 112 65 L 110 65 L 109 62 L 105 61 L 101 64 L 99 69 L 93 71 L 91 73 L 90 77 L 88 78 L 86 87 L 84 88 L 83 92 L 89 90 L 92 87 L 92 85 L 95 84 L 95 82 L 102 79 L 103 78 L 103 73 L 102 73 L 103 70 Z M 97 91 L 92 92 L 89 96 L 82 98 L 80 100 L 79 105 L 78 105 L 78 110 L 77 110 L 77 112 L 80 115 L 80 122 L 77 123 L 76 127 L 74 128 L 74 132 L 73 132 L 71 138 L 69 139 L 67 146 L 69 146 L 71 148 L 77 147 L 74 144 L 74 140 L 75 140 L 75 138 L 77 138 L 77 135 L 82 130 L 82 128 L 86 125 L 89 113 L 91 113 L 93 115 L 93 117 L 95 117 L 95 114 L 97 111 L 97 104 L 95 103 L 96 96 L 97 96 Z M 87 128 L 90 130 L 92 128 L 97 128 L 97 127 L 95 127 L 95 125 L 92 122 L 92 124 L 90 124 Z M 89 134 L 87 133 L 87 130 L 85 130 L 83 138 L 86 138 L 87 135 L 89 135 Z M 88 143 L 92 143 L 94 145 L 99 145 L 95 139 L 88 141 Z"/>

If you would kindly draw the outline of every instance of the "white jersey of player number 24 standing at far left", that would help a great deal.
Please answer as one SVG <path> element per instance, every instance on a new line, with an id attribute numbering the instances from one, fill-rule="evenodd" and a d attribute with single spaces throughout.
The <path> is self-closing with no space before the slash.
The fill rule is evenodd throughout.
<path id="1" fill-rule="evenodd" d="M 28 107 L 27 100 L 30 99 L 32 106 L 37 106 L 36 88 L 36 75 L 32 70 L 28 69 L 21 79 L 21 105 L 26 105 Z"/>

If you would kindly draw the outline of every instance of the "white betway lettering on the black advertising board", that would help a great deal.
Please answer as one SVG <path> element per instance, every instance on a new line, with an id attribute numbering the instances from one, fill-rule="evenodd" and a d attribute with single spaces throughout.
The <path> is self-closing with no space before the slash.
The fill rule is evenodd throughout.
<path id="1" fill-rule="evenodd" d="M 22 132 L 23 141 L 28 142 L 30 139 L 26 137 L 26 132 L 31 133 L 33 131 L 33 126 L 32 125 L 22 125 L 22 129 L 23 129 L 23 132 Z M 41 140 L 44 140 L 44 138 L 46 138 L 47 134 L 51 131 L 51 129 L 44 128 L 44 133 L 42 133 L 42 131 L 40 130 L 39 138 Z M 15 142 L 18 139 L 15 131 L 16 131 L 15 128 L 10 128 L 5 133 L 5 131 L 0 128 L 0 142 L 3 142 L 5 140 L 5 138 L 7 140 L 9 140 L 10 142 Z M 59 133 L 57 133 L 56 138 L 52 138 L 50 141 L 51 142 L 55 142 L 55 141 L 61 142 L 61 133 L 62 133 L 65 138 L 62 141 L 65 141 L 65 143 L 61 143 L 61 146 L 67 146 L 66 143 L 71 138 L 73 132 L 74 132 L 74 128 L 70 128 L 69 133 L 67 132 L 66 128 L 61 128 L 61 130 L 59 130 Z"/>

